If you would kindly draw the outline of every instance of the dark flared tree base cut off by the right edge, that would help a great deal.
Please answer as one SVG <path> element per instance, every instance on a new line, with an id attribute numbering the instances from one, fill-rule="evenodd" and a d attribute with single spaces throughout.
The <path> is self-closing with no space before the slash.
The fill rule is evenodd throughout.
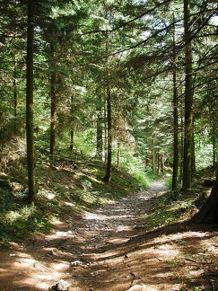
<path id="1" fill-rule="evenodd" d="M 206 200 L 205 205 L 196 214 L 197 221 L 206 224 L 218 223 L 218 172 L 214 188 L 211 191 L 210 197 Z"/>

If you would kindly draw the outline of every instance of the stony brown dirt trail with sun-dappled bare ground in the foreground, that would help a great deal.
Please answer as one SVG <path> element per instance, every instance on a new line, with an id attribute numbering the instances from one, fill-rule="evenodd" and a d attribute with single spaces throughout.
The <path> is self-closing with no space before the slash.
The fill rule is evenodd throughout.
<path id="1" fill-rule="evenodd" d="M 218 232 L 179 221 L 149 231 L 164 181 L 0 251 L 0 290 L 218 290 Z"/>

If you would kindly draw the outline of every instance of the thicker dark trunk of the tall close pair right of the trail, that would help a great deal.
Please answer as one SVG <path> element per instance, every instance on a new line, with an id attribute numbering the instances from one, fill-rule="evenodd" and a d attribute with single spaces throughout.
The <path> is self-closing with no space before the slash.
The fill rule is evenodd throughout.
<path id="1" fill-rule="evenodd" d="M 193 146 L 193 82 L 192 82 L 192 51 L 190 31 L 190 0 L 184 0 L 185 26 L 185 132 L 183 160 L 183 190 L 191 189 L 192 182 L 192 146 Z"/>

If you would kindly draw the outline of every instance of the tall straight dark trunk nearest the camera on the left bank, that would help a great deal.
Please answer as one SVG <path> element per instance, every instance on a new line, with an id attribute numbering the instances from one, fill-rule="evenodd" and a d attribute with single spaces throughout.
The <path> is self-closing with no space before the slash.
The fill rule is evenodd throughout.
<path id="1" fill-rule="evenodd" d="M 26 76 L 26 136 L 27 136 L 27 169 L 28 169 L 28 201 L 33 203 L 35 189 L 35 153 L 33 135 L 33 36 L 34 36 L 34 0 L 28 1 L 27 31 L 27 76 Z"/>

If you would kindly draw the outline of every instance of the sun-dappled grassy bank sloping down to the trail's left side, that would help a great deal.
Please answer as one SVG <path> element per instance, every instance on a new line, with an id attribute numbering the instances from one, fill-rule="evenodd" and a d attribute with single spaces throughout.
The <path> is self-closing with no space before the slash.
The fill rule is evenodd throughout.
<path id="1" fill-rule="evenodd" d="M 65 158 L 52 166 L 47 161 L 38 163 L 38 199 L 35 206 L 28 206 L 25 172 L 19 169 L 0 175 L 1 245 L 33 232 L 46 233 L 57 217 L 74 216 L 139 190 L 135 179 L 126 172 L 113 169 L 111 183 L 105 184 L 101 163 Z"/>

